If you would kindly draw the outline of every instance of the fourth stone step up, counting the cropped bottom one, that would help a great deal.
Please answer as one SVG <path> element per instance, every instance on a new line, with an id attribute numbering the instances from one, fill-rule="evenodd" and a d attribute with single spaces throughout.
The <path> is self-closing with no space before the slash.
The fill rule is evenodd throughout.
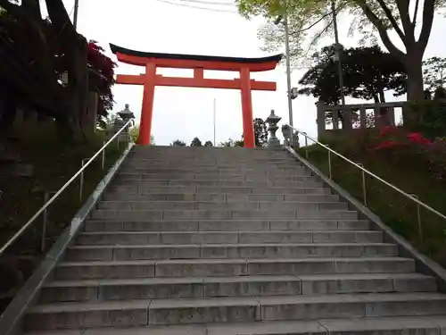
<path id="1" fill-rule="evenodd" d="M 415 262 L 402 257 L 176 259 L 62 262 L 57 280 L 245 275 L 311 275 L 335 273 L 414 272 Z"/>

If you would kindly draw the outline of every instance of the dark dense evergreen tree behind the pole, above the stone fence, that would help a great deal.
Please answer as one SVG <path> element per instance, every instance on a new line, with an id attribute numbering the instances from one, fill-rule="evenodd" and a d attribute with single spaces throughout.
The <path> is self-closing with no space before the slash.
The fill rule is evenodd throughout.
<path id="1" fill-rule="evenodd" d="M 326 105 L 339 103 L 341 88 L 334 55 L 334 46 L 325 46 L 313 55 L 317 61 L 299 80 L 299 84 L 305 86 L 299 94 L 315 96 Z M 340 57 L 345 96 L 384 103 L 385 91 L 394 91 L 394 96 L 406 92 L 402 63 L 392 54 L 384 53 L 379 46 L 342 49 Z"/>

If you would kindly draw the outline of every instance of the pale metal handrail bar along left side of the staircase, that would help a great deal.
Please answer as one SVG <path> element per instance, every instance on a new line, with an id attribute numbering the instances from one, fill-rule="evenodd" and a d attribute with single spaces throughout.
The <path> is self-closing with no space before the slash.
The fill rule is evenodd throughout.
<path id="1" fill-rule="evenodd" d="M 124 131 L 124 130 L 128 127 L 128 125 L 129 125 L 131 122 L 132 122 L 132 120 L 128 120 L 128 121 L 126 122 L 126 124 L 125 124 L 124 126 L 122 126 L 122 128 L 121 128 L 120 130 L 118 130 L 118 131 L 116 132 L 116 134 L 114 134 L 114 135 L 113 135 L 113 136 L 112 136 L 112 137 L 111 137 L 111 138 L 110 138 L 110 139 L 103 145 L 103 147 L 101 147 L 101 148 L 95 153 L 95 155 L 93 155 L 93 156 L 88 160 L 87 163 L 84 163 L 84 164 L 82 165 L 82 167 L 78 170 L 78 172 L 76 172 L 76 173 L 70 178 L 70 180 L 68 180 L 68 181 L 62 186 L 62 188 L 60 188 L 57 192 L 54 193 L 54 196 L 51 197 L 51 198 L 45 203 L 45 205 L 43 205 L 43 206 L 37 211 L 37 213 L 34 214 L 34 215 L 29 219 L 29 221 L 26 222 L 26 223 L 23 225 L 23 227 L 21 227 L 21 230 L 17 231 L 17 232 L 12 236 L 12 238 L 9 239 L 9 240 L 4 244 L 4 246 L 0 249 L 0 255 L 3 255 L 4 251 L 5 251 L 8 247 L 10 247 L 10 246 L 12 245 L 12 243 L 15 242 L 16 239 L 19 239 L 19 238 L 21 237 L 21 234 L 22 234 L 25 230 L 27 230 L 27 229 L 29 228 L 29 226 L 30 226 L 33 222 L 36 221 L 37 217 L 38 217 L 40 214 L 44 213 L 45 210 L 46 210 L 46 208 L 48 208 L 49 205 L 51 205 L 51 204 L 54 203 L 54 200 L 62 194 L 62 192 L 65 190 L 65 188 L 68 188 L 68 187 L 70 186 L 70 184 L 71 184 L 74 180 L 76 180 L 76 178 L 78 178 L 78 176 L 83 175 L 83 172 L 87 169 L 88 165 L 90 165 L 90 164 L 95 160 L 95 158 L 96 158 L 98 155 L 101 155 L 101 153 L 104 152 L 104 150 L 111 144 L 111 142 L 112 142 L 115 138 L 118 138 L 118 136 L 120 136 L 120 133 L 121 133 L 122 131 Z"/>

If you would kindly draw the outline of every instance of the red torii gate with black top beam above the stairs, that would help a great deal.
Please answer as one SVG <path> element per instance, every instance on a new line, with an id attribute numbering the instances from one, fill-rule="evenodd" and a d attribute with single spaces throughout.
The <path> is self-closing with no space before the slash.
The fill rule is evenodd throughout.
<path id="1" fill-rule="evenodd" d="M 118 74 L 118 84 L 144 85 L 143 108 L 139 128 L 139 144 L 150 144 L 152 130 L 153 98 L 155 86 L 177 86 L 183 88 L 231 88 L 242 92 L 242 112 L 244 122 L 244 147 L 255 147 L 252 124 L 252 90 L 275 91 L 276 82 L 251 80 L 252 71 L 269 71 L 276 68 L 282 54 L 262 58 L 237 58 L 194 54 L 145 53 L 124 47 L 110 45 L 111 52 L 118 61 L 145 66 L 141 75 Z M 156 74 L 156 68 L 194 69 L 194 78 L 164 77 Z M 206 79 L 204 70 L 239 71 L 235 80 Z"/>

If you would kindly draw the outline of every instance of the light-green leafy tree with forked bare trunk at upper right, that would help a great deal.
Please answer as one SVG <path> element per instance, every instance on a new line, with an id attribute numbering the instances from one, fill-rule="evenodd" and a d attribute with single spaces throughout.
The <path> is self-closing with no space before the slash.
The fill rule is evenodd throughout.
<path id="1" fill-rule="evenodd" d="M 262 15 L 269 19 L 267 26 L 260 31 L 268 50 L 283 46 L 285 29 L 283 25 L 275 25 L 273 21 L 277 15 L 286 14 L 291 35 L 291 54 L 295 58 L 306 55 L 303 46 L 311 29 L 316 31 L 316 35 L 312 36 L 310 47 L 317 46 L 318 39 L 332 29 L 332 1 L 334 0 L 237 0 L 237 3 L 240 13 L 245 17 Z M 351 32 L 362 34 L 364 39 L 370 39 L 377 33 L 386 49 L 405 67 L 408 75 L 408 99 L 422 100 L 422 59 L 431 34 L 434 10 L 444 3 L 444 0 L 352 0 L 338 2 L 336 11 L 351 14 Z M 324 28 L 317 31 L 315 29 L 318 29 L 319 23 L 323 23 Z M 405 50 L 395 46 L 390 33 L 396 33 Z"/>

